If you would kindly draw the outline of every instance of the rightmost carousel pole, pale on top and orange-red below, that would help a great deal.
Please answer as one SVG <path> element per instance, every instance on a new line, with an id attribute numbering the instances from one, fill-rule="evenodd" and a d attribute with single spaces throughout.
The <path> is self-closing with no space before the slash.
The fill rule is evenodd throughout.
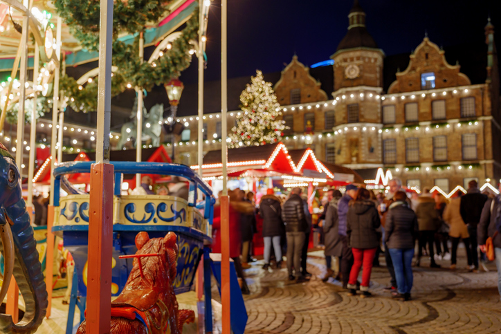
<path id="1" fill-rule="evenodd" d="M 230 315 L 230 198 L 228 196 L 228 73 L 227 73 L 227 3 L 221 0 L 221 163 L 223 163 L 223 195 L 221 196 L 221 304 L 223 311 L 222 333 L 231 333 Z"/>

